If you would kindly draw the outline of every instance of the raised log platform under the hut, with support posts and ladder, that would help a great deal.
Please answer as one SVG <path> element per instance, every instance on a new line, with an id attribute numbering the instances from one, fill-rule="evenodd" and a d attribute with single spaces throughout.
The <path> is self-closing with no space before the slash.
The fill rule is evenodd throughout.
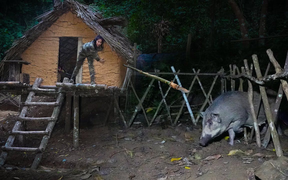
<path id="1" fill-rule="evenodd" d="M 65 79 L 68 82 L 68 78 Z M 10 92 L 11 94 L 21 95 L 25 98 L 20 98 L 21 102 L 19 102 L 20 107 L 24 107 L 22 109 L 20 116 L 16 118 L 16 124 L 13 130 L 10 132 L 10 137 L 7 140 L 5 146 L 2 146 L 3 150 L 0 156 L 0 166 L 3 166 L 5 160 L 8 155 L 8 151 L 20 151 L 20 152 L 36 152 L 35 160 L 31 166 L 31 168 L 38 168 L 43 151 L 46 148 L 48 140 L 50 138 L 51 132 L 53 130 L 54 124 L 58 120 L 58 114 L 62 105 L 62 100 L 66 97 L 65 104 L 65 133 L 68 134 L 71 131 L 71 115 L 73 115 L 73 145 L 74 148 L 79 147 L 79 97 L 107 97 L 111 98 L 111 104 L 109 105 L 109 109 L 107 110 L 107 114 L 104 120 L 104 124 L 106 123 L 109 113 L 112 109 L 114 109 L 114 115 L 120 114 L 124 125 L 127 127 L 127 124 L 124 120 L 122 112 L 119 108 L 119 97 L 125 96 L 126 94 L 121 92 L 121 89 L 116 86 L 107 86 L 105 84 L 72 84 L 72 83 L 56 83 L 55 86 L 45 86 L 41 85 L 42 79 L 37 78 L 37 82 L 34 85 L 24 84 L 22 82 L 0 82 L 0 92 Z M 36 86 L 37 85 L 37 86 Z M 29 95 L 28 95 L 29 94 Z M 26 99 L 28 95 L 28 100 Z M 57 96 L 56 102 L 31 102 L 33 96 Z M 73 98 L 72 98 L 73 97 Z M 73 111 L 72 111 L 72 99 L 73 99 Z M 115 108 L 113 108 L 113 105 Z M 51 117 L 43 117 L 43 118 L 28 118 L 26 116 L 26 111 L 29 106 L 53 106 L 57 113 L 54 113 Z M 116 110 L 116 111 L 115 111 Z M 118 116 L 117 115 L 117 116 Z M 25 124 L 25 121 L 49 121 L 49 124 L 46 128 L 46 131 L 23 131 L 21 130 L 21 125 Z M 22 128 L 23 129 L 23 128 Z M 15 135 L 19 137 L 27 135 L 27 134 L 38 134 L 43 135 L 43 140 L 39 148 L 26 148 L 26 147 L 12 147 L 13 141 L 15 139 Z M 23 139 L 23 138 L 22 138 Z M 24 143 L 22 143 L 24 145 Z"/>

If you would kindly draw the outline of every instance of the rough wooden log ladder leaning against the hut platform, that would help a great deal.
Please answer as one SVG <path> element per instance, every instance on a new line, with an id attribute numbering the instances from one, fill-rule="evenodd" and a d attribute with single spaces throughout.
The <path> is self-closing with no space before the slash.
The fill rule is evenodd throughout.
<path id="1" fill-rule="evenodd" d="M 63 82 L 68 82 L 68 78 L 64 78 Z M 33 161 L 33 164 L 31 166 L 32 169 L 36 169 L 38 168 L 42 156 L 43 156 L 43 152 L 45 151 L 47 144 L 48 144 L 48 140 L 51 136 L 51 132 L 54 128 L 54 125 L 56 123 L 56 120 L 58 119 L 58 115 L 60 112 L 60 108 L 62 105 L 62 101 L 64 99 L 65 93 L 64 92 L 60 92 L 58 97 L 57 97 L 57 101 L 56 102 L 52 102 L 52 103 L 37 103 L 37 102 L 32 102 L 32 99 L 36 93 L 36 91 L 41 91 L 41 92 L 51 92 L 50 89 L 40 89 L 38 88 L 40 86 L 40 84 L 42 83 L 43 79 L 41 78 L 36 78 L 31 91 L 29 92 L 27 99 L 25 102 L 22 103 L 23 108 L 19 114 L 18 117 L 16 118 L 16 122 L 15 125 L 12 129 L 12 131 L 9 131 L 10 136 L 7 139 L 7 142 L 5 144 L 5 146 L 2 146 L 2 153 L 0 156 L 0 167 L 3 166 L 5 164 L 6 158 L 8 156 L 8 151 L 18 151 L 18 152 L 35 152 L 37 153 L 35 156 L 35 159 Z M 55 106 L 53 113 L 51 115 L 51 117 L 45 117 L 45 118 L 28 118 L 25 117 L 26 113 L 28 111 L 28 107 L 29 106 Z M 22 125 L 23 121 L 49 121 L 47 128 L 45 131 L 21 131 L 20 127 Z M 33 134 L 33 135 L 43 135 L 43 139 L 41 141 L 41 144 L 38 148 L 32 148 L 32 147 L 12 147 L 14 139 L 15 139 L 15 135 L 27 135 L 27 134 Z"/>

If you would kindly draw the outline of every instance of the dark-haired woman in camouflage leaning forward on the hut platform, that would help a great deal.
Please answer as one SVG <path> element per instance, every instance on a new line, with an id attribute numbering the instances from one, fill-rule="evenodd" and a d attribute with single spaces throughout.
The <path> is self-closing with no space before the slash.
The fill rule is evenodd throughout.
<path id="1" fill-rule="evenodd" d="M 91 84 L 95 84 L 95 75 L 94 75 L 94 67 L 93 67 L 93 59 L 104 64 L 105 60 L 100 59 L 98 56 L 98 51 L 103 51 L 103 43 L 104 39 L 100 35 L 96 36 L 95 39 L 91 42 L 85 43 L 80 51 L 79 56 L 77 58 L 76 67 L 73 71 L 71 79 L 68 83 L 75 83 L 75 77 L 79 72 L 80 67 L 82 66 L 85 58 L 88 60 L 88 67 L 90 73 Z"/>

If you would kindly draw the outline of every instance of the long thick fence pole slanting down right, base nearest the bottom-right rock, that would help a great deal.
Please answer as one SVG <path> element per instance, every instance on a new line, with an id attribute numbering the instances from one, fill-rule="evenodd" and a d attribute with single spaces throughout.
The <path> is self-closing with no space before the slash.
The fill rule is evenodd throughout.
<path id="1" fill-rule="evenodd" d="M 252 55 L 252 59 L 253 59 L 255 71 L 256 71 L 256 74 L 257 74 L 257 78 L 261 78 L 262 75 L 261 75 L 261 71 L 260 71 L 260 68 L 259 68 L 257 55 L 253 54 Z M 270 105 L 269 105 L 269 102 L 268 102 L 268 98 L 267 98 L 267 94 L 266 94 L 266 91 L 265 91 L 265 87 L 264 86 L 259 86 L 259 88 L 260 88 L 260 92 L 261 92 L 261 95 L 262 95 L 262 101 L 263 101 L 264 108 L 265 108 L 265 114 L 266 114 L 266 117 L 267 117 L 267 121 L 269 123 L 269 128 L 270 128 L 270 131 L 271 131 L 271 135 L 272 135 L 272 139 L 273 139 L 276 155 L 278 157 L 280 157 L 280 156 L 283 156 L 283 152 L 282 152 L 281 145 L 280 145 L 280 142 L 279 142 L 278 134 L 276 132 L 275 124 L 274 124 L 274 122 L 272 120 L 272 114 L 271 114 L 271 111 L 270 111 Z"/>

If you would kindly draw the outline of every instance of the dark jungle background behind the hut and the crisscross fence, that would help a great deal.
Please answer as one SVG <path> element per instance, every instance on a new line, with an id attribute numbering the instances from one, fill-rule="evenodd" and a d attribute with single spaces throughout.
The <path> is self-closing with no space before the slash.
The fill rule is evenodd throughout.
<path id="1" fill-rule="evenodd" d="M 176 71 L 180 69 L 186 73 L 192 73 L 193 68 L 196 71 L 200 69 L 202 73 L 216 73 L 221 67 L 228 72 L 230 64 L 236 64 L 240 68 L 244 66 L 243 59 L 251 63 L 251 56 L 257 54 L 264 75 L 269 62 L 267 49 L 273 51 L 276 60 L 281 67 L 284 67 L 288 50 L 288 36 L 285 36 L 288 35 L 287 0 L 79 0 L 79 2 L 96 7 L 105 17 L 125 17 L 128 25 L 123 31 L 132 43 L 137 43 L 137 48 L 143 54 L 158 52 L 176 54 L 169 62 L 159 62 L 153 66 L 162 72 L 171 72 L 171 65 L 174 65 Z M 34 18 L 51 9 L 53 1 L 1 0 L 0 4 L 0 60 L 2 60 L 5 57 L 4 52 L 11 47 L 13 41 L 36 25 L 38 22 Z M 191 34 L 192 38 L 190 56 L 186 58 L 188 34 Z M 269 36 L 276 37 L 231 42 Z M 274 73 L 272 66 L 269 74 Z M 167 80 L 173 79 L 171 75 L 161 77 Z M 189 88 L 193 77 L 179 76 L 179 78 L 183 87 Z M 200 79 L 207 93 L 213 77 L 203 76 Z M 145 92 L 145 87 L 150 81 L 149 78 L 141 78 L 139 96 Z M 215 85 L 214 94 L 220 93 L 219 82 L 218 80 Z M 202 93 L 198 83 L 195 84 L 193 92 Z M 162 87 L 164 91 L 168 88 L 164 84 Z M 278 84 L 270 84 L 272 89 L 278 90 L 278 87 Z M 176 90 L 170 92 L 169 97 L 174 100 L 181 97 L 181 93 Z M 145 99 L 145 107 L 155 107 L 160 98 L 158 84 L 154 83 Z"/>

